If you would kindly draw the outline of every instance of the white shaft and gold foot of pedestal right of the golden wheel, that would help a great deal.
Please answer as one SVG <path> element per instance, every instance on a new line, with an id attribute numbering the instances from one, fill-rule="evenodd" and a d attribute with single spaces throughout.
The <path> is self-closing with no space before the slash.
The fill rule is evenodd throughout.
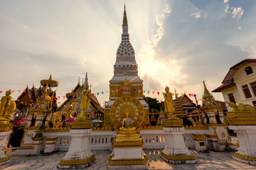
<path id="1" fill-rule="evenodd" d="M 184 128 L 164 128 L 166 147 L 161 152 L 164 161 L 171 164 L 193 164 L 196 158 L 186 148 L 183 134 Z"/>

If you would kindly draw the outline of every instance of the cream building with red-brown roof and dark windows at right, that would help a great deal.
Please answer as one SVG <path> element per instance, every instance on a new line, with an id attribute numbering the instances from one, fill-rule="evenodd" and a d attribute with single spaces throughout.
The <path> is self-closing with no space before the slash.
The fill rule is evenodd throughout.
<path id="1" fill-rule="evenodd" d="M 213 92 L 221 92 L 224 101 L 256 106 L 256 59 L 245 59 L 235 64 L 222 84 Z"/>

